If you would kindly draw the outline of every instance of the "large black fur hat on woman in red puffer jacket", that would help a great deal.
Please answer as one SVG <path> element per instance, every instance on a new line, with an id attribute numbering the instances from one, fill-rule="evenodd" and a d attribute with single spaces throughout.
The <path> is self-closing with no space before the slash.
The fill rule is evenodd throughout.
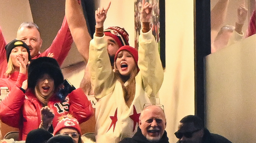
<path id="1" fill-rule="evenodd" d="M 58 62 L 51 57 L 39 57 L 32 60 L 28 68 L 28 88 L 34 89 L 37 80 L 45 73 L 54 80 L 55 89 L 64 81 L 63 74 L 60 70 Z"/>

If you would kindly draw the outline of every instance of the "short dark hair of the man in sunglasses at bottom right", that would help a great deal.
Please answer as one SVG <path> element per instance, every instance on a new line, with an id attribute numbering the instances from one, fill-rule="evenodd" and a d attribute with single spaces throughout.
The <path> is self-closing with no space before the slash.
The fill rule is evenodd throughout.
<path id="1" fill-rule="evenodd" d="M 181 119 L 181 123 L 193 123 L 195 128 L 202 129 L 203 121 L 195 115 L 188 115 Z"/>

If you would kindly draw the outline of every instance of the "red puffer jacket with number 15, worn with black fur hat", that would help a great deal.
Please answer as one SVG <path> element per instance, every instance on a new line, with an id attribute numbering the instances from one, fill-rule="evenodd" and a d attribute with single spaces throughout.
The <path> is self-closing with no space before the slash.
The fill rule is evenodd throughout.
<path id="1" fill-rule="evenodd" d="M 9 126 L 19 128 L 20 140 L 26 140 L 28 133 L 39 127 L 41 123 L 41 102 L 30 90 L 23 91 L 15 85 L 11 92 L 0 103 L 0 119 Z M 55 94 L 49 99 L 48 107 L 55 117 L 53 128 L 58 123 L 58 118 L 68 113 L 72 114 L 79 123 L 85 122 L 93 115 L 93 107 L 81 88 L 72 91 L 64 102 Z"/>

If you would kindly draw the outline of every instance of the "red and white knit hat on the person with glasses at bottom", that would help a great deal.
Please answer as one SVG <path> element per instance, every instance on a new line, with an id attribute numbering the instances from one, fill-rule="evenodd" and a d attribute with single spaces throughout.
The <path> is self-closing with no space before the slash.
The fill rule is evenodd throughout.
<path id="1" fill-rule="evenodd" d="M 79 127 L 79 123 L 75 118 L 70 119 L 68 117 L 64 117 L 63 119 L 61 119 L 54 129 L 53 135 L 56 135 L 56 133 L 58 133 L 63 128 L 74 128 L 81 136 L 81 129 Z"/>

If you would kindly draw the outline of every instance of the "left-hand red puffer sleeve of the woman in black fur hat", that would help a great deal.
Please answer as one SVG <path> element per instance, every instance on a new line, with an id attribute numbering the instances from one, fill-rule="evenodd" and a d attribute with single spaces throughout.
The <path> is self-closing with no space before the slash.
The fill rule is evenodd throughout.
<path id="1" fill-rule="evenodd" d="M 3 123 L 19 128 L 21 118 L 21 107 L 24 104 L 25 94 L 23 91 L 14 86 L 11 92 L 0 103 L 0 119 Z"/>

